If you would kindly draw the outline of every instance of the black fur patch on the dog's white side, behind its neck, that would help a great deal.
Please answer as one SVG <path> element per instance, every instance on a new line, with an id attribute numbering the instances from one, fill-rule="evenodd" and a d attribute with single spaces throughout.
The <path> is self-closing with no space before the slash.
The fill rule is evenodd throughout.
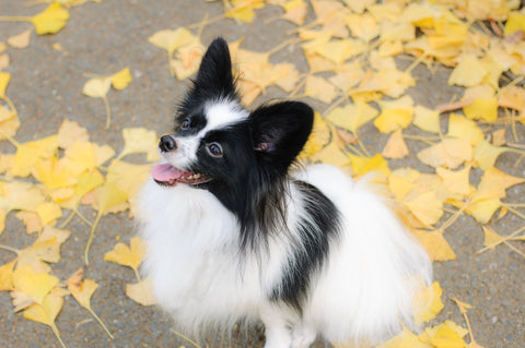
<path id="1" fill-rule="evenodd" d="M 294 185 L 304 196 L 306 216 L 300 217 L 298 225 L 292 227 L 300 241 L 292 245 L 281 283 L 272 290 L 270 299 L 284 301 L 302 313 L 312 278 L 326 261 L 330 240 L 339 233 L 340 214 L 316 187 L 303 181 L 295 181 Z"/>

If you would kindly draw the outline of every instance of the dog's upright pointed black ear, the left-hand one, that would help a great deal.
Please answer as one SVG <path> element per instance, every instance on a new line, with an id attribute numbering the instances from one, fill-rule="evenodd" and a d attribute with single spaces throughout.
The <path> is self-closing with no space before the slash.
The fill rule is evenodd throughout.
<path id="1" fill-rule="evenodd" d="M 205 97 L 235 96 L 232 59 L 228 43 L 222 37 L 215 38 L 208 47 L 194 84 L 196 92 L 202 93 Z"/>

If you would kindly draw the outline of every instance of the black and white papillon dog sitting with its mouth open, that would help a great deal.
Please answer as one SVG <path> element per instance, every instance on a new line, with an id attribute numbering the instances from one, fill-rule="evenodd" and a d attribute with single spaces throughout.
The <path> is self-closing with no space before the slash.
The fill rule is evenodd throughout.
<path id="1" fill-rule="evenodd" d="M 312 108 L 250 111 L 235 81 L 217 38 L 141 191 L 159 304 L 191 333 L 261 321 L 266 348 L 377 343 L 409 325 L 425 251 L 370 182 L 295 164 Z"/>

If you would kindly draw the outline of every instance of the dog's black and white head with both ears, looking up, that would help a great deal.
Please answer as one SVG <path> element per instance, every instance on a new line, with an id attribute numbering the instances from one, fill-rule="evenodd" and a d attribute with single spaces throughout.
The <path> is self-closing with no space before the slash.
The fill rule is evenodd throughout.
<path id="1" fill-rule="evenodd" d="M 165 164 L 152 177 L 162 185 L 206 189 L 225 201 L 240 191 L 285 177 L 313 124 L 312 109 L 298 101 L 261 106 L 240 101 L 228 44 L 214 39 L 177 110 L 175 131 L 161 137 Z M 237 202 L 238 204 L 238 202 Z"/>

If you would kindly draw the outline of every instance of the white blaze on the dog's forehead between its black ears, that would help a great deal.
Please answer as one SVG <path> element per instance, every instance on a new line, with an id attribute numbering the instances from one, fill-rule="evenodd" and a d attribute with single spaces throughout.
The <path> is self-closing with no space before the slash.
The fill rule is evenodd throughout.
<path id="1" fill-rule="evenodd" d="M 249 112 L 236 101 L 218 100 L 206 105 L 205 115 L 207 123 L 206 128 L 199 132 L 201 134 L 243 121 L 249 116 Z"/>

